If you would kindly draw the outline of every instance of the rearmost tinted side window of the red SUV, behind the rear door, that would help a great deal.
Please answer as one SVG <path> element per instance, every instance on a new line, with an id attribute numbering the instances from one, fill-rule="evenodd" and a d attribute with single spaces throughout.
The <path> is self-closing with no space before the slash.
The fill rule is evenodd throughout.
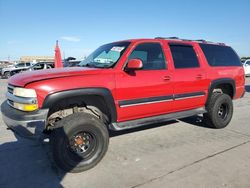
<path id="1" fill-rule="evenodd" d="M 210 66 L 241 66 L 238 55 L 228 46 L 200 44 Z"/>

